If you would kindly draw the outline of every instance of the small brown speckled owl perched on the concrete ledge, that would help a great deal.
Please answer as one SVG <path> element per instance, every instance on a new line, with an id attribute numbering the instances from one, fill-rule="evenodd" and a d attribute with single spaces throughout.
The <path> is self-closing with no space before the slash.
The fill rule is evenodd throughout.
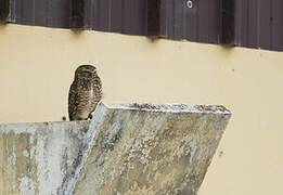
<path id="1" fill-rule="evenodd" d="M 79 66 L 68 92 L 69 120 L 91 118 L 101 99 L 102 84 L 97 68 L 92 65 Z"/>

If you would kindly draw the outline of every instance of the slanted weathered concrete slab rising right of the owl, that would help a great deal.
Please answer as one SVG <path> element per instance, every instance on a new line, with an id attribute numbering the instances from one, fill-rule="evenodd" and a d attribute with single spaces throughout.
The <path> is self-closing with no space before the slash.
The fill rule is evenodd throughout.
<path id="1" fill-rule="evenodd" d="M 65 194 L 195 195 L 230 116 L 222 106 L 102 104 Z"/>

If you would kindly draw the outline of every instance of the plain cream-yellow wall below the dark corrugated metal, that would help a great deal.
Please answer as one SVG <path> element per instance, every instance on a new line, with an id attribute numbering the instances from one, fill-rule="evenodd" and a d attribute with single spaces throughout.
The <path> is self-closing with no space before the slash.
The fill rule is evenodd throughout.
<path id="1" fill-rule="evenodd" d="M 233 117 L 200 195 L 283 194 L 283 53 L 0 26 L 0 122 L 61 120 L 75 68 L 106 102 L 222 104 Z"/>

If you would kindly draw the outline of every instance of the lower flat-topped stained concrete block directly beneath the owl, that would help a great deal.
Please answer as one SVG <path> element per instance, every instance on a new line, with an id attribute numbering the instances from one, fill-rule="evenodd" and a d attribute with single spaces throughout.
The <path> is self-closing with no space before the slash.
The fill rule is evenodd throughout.
<path id="1" fill-rule="evenodd" d="M 0 195 L 60 194 L 89 121 L 0 125 Z"/>

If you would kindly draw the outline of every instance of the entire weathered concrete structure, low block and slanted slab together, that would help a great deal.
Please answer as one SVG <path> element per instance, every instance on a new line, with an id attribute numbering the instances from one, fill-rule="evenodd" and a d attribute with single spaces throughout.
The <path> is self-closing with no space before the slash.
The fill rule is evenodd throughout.
<path id="1" fill-rule="evenodd" d="M 0 194 L 194 195 L 230 116 L 101 104 L 91 121 L 0 125 Z"/>

